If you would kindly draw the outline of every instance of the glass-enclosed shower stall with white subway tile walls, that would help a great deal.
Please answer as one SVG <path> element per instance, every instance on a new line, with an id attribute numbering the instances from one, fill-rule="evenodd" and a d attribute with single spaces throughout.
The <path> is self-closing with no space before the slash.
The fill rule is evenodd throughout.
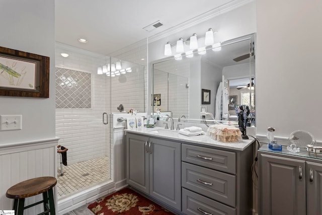
<path id="1" fill-rule="evenodd" d="M 57 153 L 58 210 L 67 200 L 76 202 L 84 192 L 125 177 L 114 175 L 122 167 L 114 164 L 119 149 L 113 114 L 145 111 L 146 66 L 140 63 L 56 42 L 56 136 L 68 149 L 62 170 Z"/>

